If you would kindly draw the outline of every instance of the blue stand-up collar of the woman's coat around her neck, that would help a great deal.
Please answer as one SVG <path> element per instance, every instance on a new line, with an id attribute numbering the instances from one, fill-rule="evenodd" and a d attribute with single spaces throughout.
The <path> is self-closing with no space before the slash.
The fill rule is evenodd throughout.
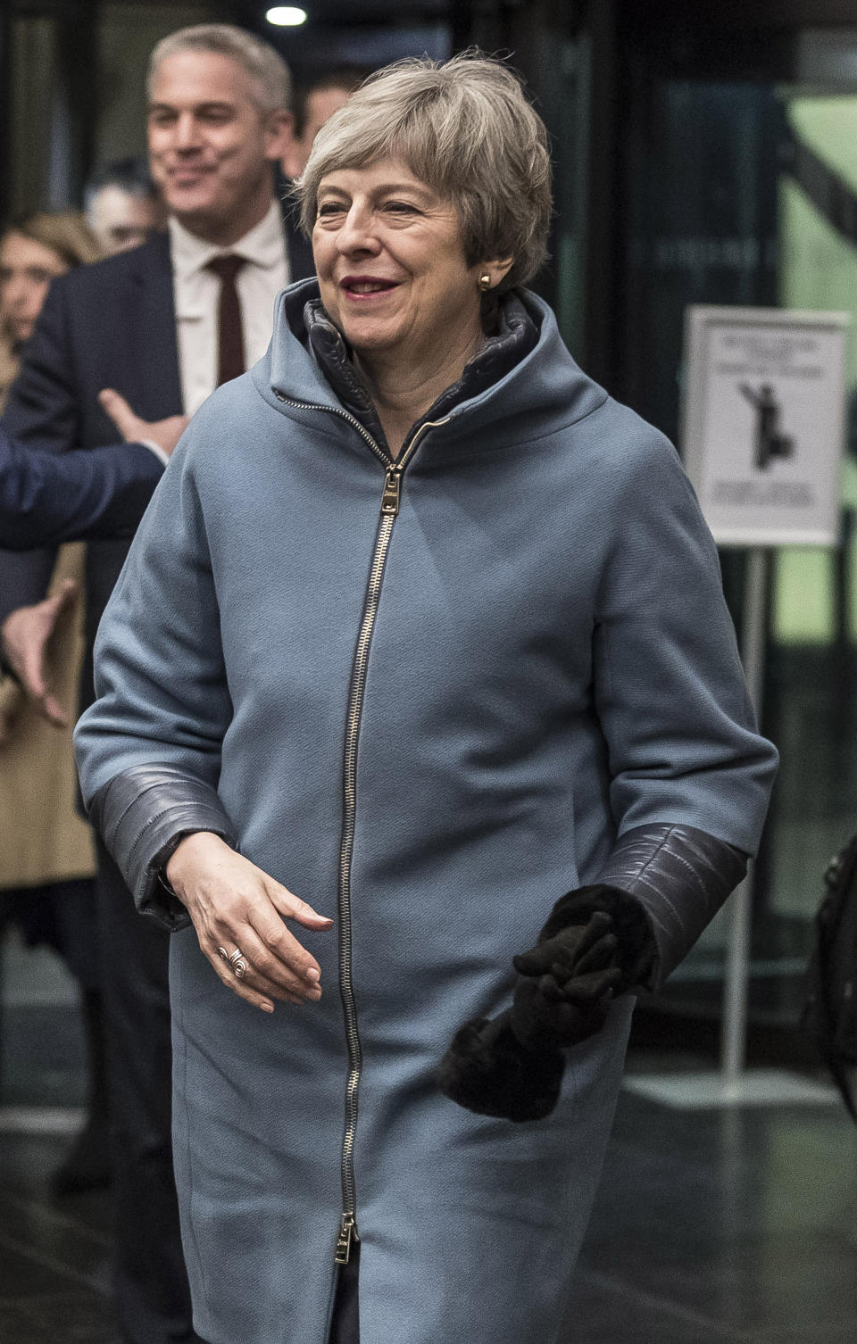
<path id="1" fill-rule="evenodd" d="M 470 435 L 491 426 L 492 442 L 514 442 L 521 438 L 522 421 L 526 435 L 533 437 L 572 425 L 607 401 L 604 388 L 569 355 L 548 304 L 530 290 L 515 293 L 538 329 L 537 344 L 486 391 L 459 402 L 444 437 L 457 437 L 453 427 Z M 284 414 L 299 410 L 284 398 L 315 407 L 340 406 L 309 345 L 304 309 L 318 297 L 316 280 L 289 285 L 277 296 L 270 347 L 252 371 L 258 392 Z"/>

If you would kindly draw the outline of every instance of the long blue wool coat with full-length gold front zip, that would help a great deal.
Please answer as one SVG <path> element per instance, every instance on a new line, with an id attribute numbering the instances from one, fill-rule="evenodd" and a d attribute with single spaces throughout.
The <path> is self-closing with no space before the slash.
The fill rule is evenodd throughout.
<path id="1" fill-rule="evenodd" d="M 281 296 L 268 356 L 174 454 L 77 732 L 86 797 L 135 766 L 194 775 L 249 859 L 339 915 L 339 946 L 297 930 L 322 1001 L 273 1016 L 192 929 L 172 939 L 195 1324 L 211 1344 L 326 1340 L 355 1035 L 362 1344 L 548 1344 L 631 1000 L 568 1052 L 545 1121 L 464 1111 L 435 1070 L 619 833 L 683 823 L 753 852 L 775 753 L 674 449 L 577 368 L 539 300 L 535 348 L 422 434 L 393 513 L 304 340 L 313 293 Z M 143 870 L 141 903 L 175 919 Z"/>

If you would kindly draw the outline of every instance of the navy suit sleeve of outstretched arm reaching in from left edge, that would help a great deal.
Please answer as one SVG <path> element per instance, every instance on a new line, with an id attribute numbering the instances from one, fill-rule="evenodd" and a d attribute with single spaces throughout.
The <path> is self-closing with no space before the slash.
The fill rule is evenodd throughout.
<path id="1" fill-rule="evenodd" d="M 0 543 L 9 550 L 131 536 L 163 465 L 144 444 L 46 453 L 0 430 Z"/>

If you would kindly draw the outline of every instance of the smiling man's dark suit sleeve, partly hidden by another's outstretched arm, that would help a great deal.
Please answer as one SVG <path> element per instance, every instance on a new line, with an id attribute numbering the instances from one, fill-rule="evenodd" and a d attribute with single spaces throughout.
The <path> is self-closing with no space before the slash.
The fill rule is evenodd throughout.
<path id="1" fill-rule="evenodd" d="M 67 278 L 61 277 L 50 288 L 3 415 L 7 433 L 48 453 L 66 453 L 81 442 Z M 44 597 L 55 559 L 55 546 L 26 555 L 0 551 L 0 621 Z"/>

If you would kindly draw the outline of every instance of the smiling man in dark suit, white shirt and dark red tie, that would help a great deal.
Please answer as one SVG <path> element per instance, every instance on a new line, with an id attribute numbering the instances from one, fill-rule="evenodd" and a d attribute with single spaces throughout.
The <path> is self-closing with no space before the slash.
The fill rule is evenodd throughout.
<path id="1" fill-rule="evenodd" d="M 116 388 L 143 422 L 159 422 L 192 414 L 218 382 L 260 358 L 276 289 L 312 271 L 308 245 L 273 195 L 272 167 L 291 134 L 288 97 L 284 62 L 249 32 L 202 26 L 159 43 L 148 138 L 168 233 L 51 286 L 9 396 L 8 431 L 54 453 L 110 444 L 102 388 Z M 137 437 L 149 437 L 145 423 Z M 89 547 L 83 704 L 93 698 L 91 642 L 126 548 Z M 43 597 L 51 564 L 51 552 L 3 556 L 0 620 Z M 97 887 L 120 1324 L 126 1344 L 175 1344 L 195 1336 L 172 1184 L 167 935 L 135 913 L 104 847 Z"/>

